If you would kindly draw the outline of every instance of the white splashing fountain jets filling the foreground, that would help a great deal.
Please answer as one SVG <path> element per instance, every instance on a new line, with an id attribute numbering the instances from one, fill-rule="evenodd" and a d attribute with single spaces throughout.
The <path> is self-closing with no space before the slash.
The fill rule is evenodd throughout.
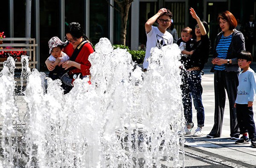
<path id="1" fill-rule="evenodd" d="M 177 45 L 152 49 L 146 73 L 138 66 L 134 69 L 126 49 L 113 49 L 107 38 L 101 38 L 95 50 L 89 57 L 92 84 L 76 79 L 66 95 L 60 80 L 47 79 L 46 92 L 44 73 L 36 69 L 23 73 L 28 76 L 23 96 L 27 127 L 23 154 L 17 160 L 27 168 L 184 166 L 179 158 L 183 143 L 177 136 L 183 127 Z M 1 90 L 5 96 L 0 103 L 15 104 L 10 92 L 15 83 L 4 75 L 12 73 L 4 67 L 0 74 L 0 85 L 7 89 Z M 10 139 L 11 114 L 17 109 L 9 107 L 13 109 L 1 106 L 1 115 L 2 135 Z M 5 148 L 0 164 L 5 167 L 18 165 L 10 144 L 1 143 Z"/>

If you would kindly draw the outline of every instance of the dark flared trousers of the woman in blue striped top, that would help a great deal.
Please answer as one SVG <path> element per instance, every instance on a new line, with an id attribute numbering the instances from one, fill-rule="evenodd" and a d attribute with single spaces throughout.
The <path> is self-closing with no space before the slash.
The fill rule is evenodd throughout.
<path id="1" fill-rule="evenodd" d="M 234 107 L 236 101 L 238 87 L 239 72 L 226 72 L 215 70 L 214 72 L 214 95 L 215 95 L 215 111 L 214 125 L 209 135 L 220 137 L 223 123 L 226 93 L 229 99 L 230 107 L 230 136 L 239 134 L 239 127 L 236 119 L 236 109 Z"/>

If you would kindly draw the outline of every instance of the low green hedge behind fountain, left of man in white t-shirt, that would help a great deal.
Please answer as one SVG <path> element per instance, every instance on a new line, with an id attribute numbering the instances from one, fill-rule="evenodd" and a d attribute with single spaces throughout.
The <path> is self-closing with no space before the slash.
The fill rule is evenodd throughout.
<path id="1" fill-rule="evenodd" d="M 127 49 L 127 51 L 131 54 L 131 58 L 133 61 L 136 61 L 137 64 L 142 64 L 145 57 L 145 51 L 141 50 L 130 50 L 128 46 L 114 44 L 114 49 L 120 48 L 120 49 Z"/>

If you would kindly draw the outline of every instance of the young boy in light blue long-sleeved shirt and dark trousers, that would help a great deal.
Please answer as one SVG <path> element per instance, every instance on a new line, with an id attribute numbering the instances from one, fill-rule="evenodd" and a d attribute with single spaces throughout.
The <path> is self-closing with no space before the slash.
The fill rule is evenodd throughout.
<path id="1" fill-rule="evenodd" d="M 239 86 L 237 87 L 237 96 L 234 107 L 236 108 L 236 117 L 240 129 L 241 138 L 236 144 L 249 144 L 256 148 L 256 130 L 253 121 L 253 101 L 256 95 L 256 74 L 250 68 L 253 57 L 250 52 L 241 52 L 238 57 L 238 65 L 242 72 L 239 73 Z M 249 133 L 249 138 L 247 136 Z"/>

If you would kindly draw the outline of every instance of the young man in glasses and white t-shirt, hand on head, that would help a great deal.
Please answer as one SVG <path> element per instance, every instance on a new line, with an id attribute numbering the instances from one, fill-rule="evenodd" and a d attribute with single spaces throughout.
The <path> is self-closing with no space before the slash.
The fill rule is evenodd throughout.
<path id="1" fill-rule="evenodd" d="M 172 21 L 172 12 L 169 9 L 162 8 L 157 14 L 152 16 L 145 23 L 145 30 L 147 34 L 147 46 L 146 46 L 146 54 L 143 62 L 144 72 L 148 69 L 148 58 L 151 53 L 150 50 L 152 47 L 161 48 L 162 46 L 166 46 L 173 43 L 173 38 L 171 33 L 167 32 L 166 29 L 169 28 Z M 157 20 L 158 26 L 152 26 Z"/>

